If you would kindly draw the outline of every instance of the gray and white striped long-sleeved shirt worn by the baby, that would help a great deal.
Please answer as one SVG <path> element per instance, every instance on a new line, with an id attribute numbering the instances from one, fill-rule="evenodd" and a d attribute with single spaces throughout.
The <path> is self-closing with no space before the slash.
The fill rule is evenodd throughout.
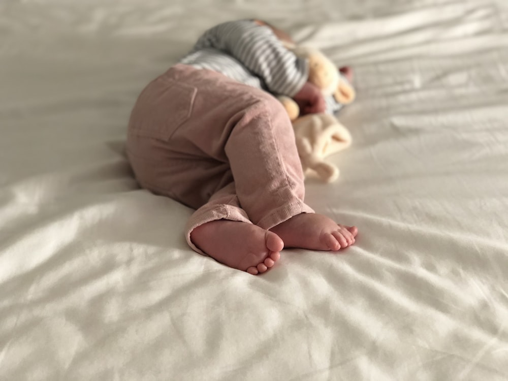
<path id="1" fill-rule="evenodd" d="M 286 49 L 268 26 L 253 20 L 208 29 L 180 63 L 288 97 L 298 93 L 308 78 L 307 60 Z M 340 105 L 329 98 L 327 112 L 333 113 Z"/>

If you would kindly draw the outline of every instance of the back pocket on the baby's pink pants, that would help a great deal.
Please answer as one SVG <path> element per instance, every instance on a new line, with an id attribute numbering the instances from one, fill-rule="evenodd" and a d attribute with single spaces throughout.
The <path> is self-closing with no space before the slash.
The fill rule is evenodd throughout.
<path id="1" fill-rule="evenodd" d="M 190 117 L 196 98 L 194 86 L 159 77 L 140 94 L 129 123 L 129 133 L 169 140 Z"/>

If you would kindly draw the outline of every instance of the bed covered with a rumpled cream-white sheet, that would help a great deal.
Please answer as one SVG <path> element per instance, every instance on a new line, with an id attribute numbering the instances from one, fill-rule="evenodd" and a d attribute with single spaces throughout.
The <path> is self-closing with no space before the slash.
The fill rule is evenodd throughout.
<path id="1" fill-rule="evenodd" d="M 130 110 L 207 27 L 259 17 L 355 70 L 342 253 L 252 276 L 140 189 Z M 505 0 L 0 3 L 0 379 L 508 379 Z"/>

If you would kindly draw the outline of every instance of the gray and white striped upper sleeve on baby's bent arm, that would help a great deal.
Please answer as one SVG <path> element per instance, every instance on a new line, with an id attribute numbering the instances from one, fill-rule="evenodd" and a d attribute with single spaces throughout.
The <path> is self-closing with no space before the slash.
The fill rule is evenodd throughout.
<path id="1" fill-rule="evenodd" d="M 230 54 L 274 94 L 293 97 L 307 81 L 307 60 L 286 49 L 268 26 L 252 20 L 225 22 L 208 29 L 194 50 L 204 48 Z"/>

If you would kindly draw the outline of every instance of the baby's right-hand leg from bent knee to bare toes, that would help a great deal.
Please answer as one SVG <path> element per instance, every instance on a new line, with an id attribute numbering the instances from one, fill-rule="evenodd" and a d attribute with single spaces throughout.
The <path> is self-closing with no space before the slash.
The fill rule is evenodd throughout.
<path id="1" fill-rule="evenodd" d="M 250 116 L 252 114 L 253 116 Z M 226 144 L 236 194 L 250 219 L 276 233 L 285 247 L 339 250 L 352 245 L 356 227 L 338 225 L 303 203 L 303 173 L 294 132 L 277 102 L 247 110 Z"/>

